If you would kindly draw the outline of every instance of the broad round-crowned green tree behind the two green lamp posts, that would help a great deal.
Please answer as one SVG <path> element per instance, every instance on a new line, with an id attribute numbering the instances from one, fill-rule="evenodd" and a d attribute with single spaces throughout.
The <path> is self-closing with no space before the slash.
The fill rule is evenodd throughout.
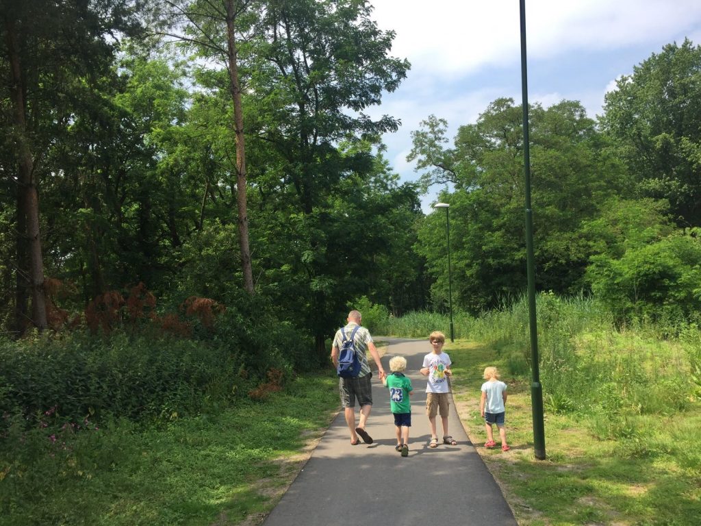
<path id="1" fill-rule="evenodd" d="M 576 292 L 585 285 L 587 247 L 578 234 L 611 191 L 625 184 L 615 161 L 579 102 L 562 101 L 531 116 L 531 176 L 538 287 Z M 449 178 L 451 252 L 457 304 L 478 312 L 522 292 L 525 279 L 522 111 L 497 99 L 477 123 L 458 128 L 445 149 L 444 121 L 431 117 L 414 133 L 411 157 L 431 168 L 426 184 Z M 433 214 L 432 214 L 433 216 Z M 447 263 L 433 250 L 442 220 L 429 217 L 419 233 L 419 252 L 437 278 L 435 299 L 447 294 Z"/>

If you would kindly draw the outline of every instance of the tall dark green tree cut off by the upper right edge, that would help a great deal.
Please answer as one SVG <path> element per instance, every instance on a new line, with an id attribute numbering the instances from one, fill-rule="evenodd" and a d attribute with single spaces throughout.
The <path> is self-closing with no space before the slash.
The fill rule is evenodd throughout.
<path id="1" fill-rule="evenodd" d="M 701 225 L 701 47 L 685 39 L 653 53 L 606 94 L 601 125 L 640 196 L 666 199 L 680 226 Z"/>

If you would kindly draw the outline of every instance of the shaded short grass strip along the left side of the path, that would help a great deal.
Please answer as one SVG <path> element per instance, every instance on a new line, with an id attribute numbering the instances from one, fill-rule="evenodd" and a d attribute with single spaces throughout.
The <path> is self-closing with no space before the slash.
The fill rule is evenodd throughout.
<path id="1" fill-rule="evenodd" d="M 0 443 L 0 524 L 233 525 L 266 513 L 338 409 L 335 385 L 305 375 L 266 403 L 55 443 L 13 430 Z"/>

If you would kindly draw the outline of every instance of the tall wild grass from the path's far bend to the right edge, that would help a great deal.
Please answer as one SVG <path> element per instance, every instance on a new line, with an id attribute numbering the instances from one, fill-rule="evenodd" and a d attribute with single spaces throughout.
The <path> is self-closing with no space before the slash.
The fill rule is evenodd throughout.
<path id="1" fill-rule="evenodd" d="M 634 433 L 632 419 L 674 414 L 701 396 L 701 333 L 695 325 L 616 327 L 611 313 L 594 299 L 552 293 L 538 295 L 536 313 L 547 409 L 593 415 L 592 428 L 602 438 Z M 401 318 L 380 314 L 372 317 L 375 334 L 427 337 L 433 330 L 449 332 L 445 314 L 416 312 Z M 510 375 L 529 377 L 525 297 L 476 318 L 458 312 L 454 332 L 456 338 L 494 349 Z"/>

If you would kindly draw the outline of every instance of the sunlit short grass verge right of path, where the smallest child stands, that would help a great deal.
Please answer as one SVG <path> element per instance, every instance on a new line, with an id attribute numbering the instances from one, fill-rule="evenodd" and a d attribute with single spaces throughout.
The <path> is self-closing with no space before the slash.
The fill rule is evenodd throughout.
<path id="1" fill-rule="evenodd" d="M 493 348 L 456 341 L 454 398 L 465 430 L 522 526 L 675 525 L 701 517 L 701 407 L 662 415 L 545 414 L 547 459 L 533 456 L 530 382 L 502 379 L 509 452 L 484 448 L 479 417 L 482 371 L 508 367 Z M 547 390 L 547 386 L 545 386 Z M 601 439 L 617 426 L 617 440 Z M 622 430 L 622 431 L 621 431 Z M 605 431 L 605 430 L 604 430 Z M 496 433 L 495 433 L 496 435 Z"/>

